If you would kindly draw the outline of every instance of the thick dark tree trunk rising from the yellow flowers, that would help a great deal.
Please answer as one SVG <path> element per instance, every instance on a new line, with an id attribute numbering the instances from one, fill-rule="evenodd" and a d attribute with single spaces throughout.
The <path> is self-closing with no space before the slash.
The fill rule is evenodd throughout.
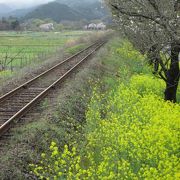
<path id="1" fill-rule="evenodd" d="M 174 103 L 176 102 L 176 93 L 177 93 L 178 82 L 180 77 L 179 53 L 180 53 L 180 44 L 172 43 L 171 64 L 166 74 L 167 82 L 166 82 L 166 90 L 164 94 L 165 94 L 165 100 L 169 100 Z"/>

